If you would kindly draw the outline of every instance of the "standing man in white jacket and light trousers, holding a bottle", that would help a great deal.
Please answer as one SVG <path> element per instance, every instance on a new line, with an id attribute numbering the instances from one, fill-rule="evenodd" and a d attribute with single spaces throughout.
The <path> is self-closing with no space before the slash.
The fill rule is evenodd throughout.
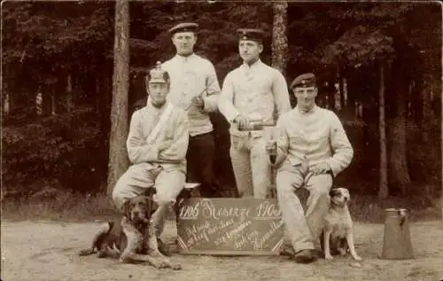
<path id="1" fill-rule="evenodd" d="M 238 29 L 238 51 L 243 64 L 226 76 L 219 110 L 230 123 L 230 158 L 241 197 L 266 198 L 271 169 L 262 130 L 253 122 L 275 122 L 276 113 L 291 110 L 283 74 L 260 60 L 260 29 Z"/>

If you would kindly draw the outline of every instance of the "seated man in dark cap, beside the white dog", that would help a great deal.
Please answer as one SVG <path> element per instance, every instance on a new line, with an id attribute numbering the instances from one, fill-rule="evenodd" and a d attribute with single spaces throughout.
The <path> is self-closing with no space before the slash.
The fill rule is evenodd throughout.
<path id="1" fill-rule="evenodd" d="M 291 90 L 297 106 L 279 118 L 278 137 L 267 148 L 277 149 L 277 199 L 295 261 L 307 263 L 318 258 L 315 246 L 328 211 L 332 178 L 350 164 L 354 150 L 338 116 L 315 105 L 314 74 L 296 77 Z M 294 193 L 301 186 L 309 191 L 306 214 Z"/>

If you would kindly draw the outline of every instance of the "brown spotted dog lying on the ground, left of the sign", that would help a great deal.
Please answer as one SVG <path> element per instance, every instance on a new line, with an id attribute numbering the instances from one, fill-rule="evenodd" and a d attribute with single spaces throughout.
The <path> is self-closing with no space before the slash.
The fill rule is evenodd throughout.
<path id="1" fill-rule="evenodd" d="M 157 237 L 151 216 L 157 204 L 152 196 L 152 188 L 146 194 L 128 199 L 123 207 L 124 215 L 120 223 L 106 222 L 102 225 L 92 241 L 89 249 L 79 255 L 97 253 L 97 256 L 119 258 L 120 262 L 129 260 L 148 261 L 156 268 L 181 269 L 173 265 L 169 259 L 159 253 Z M 96 252 L 97 249 L 97 252 Z"/>

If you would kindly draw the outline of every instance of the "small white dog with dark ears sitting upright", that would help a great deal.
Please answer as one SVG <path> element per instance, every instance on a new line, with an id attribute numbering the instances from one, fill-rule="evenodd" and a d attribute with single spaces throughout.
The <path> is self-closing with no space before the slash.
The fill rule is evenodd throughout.
<path id="1" fill-rule="evenodd" d="M 332 254 L 346 255 L 349 250 L 354 260 L 361 261 L 355 252 L 353 220 L 347 208 L 351 196 L 346 188 L 330 190 L 330 209 L 324 217 L 324 227 L 320 245 L 326 260 L 332 260 Z"/>

